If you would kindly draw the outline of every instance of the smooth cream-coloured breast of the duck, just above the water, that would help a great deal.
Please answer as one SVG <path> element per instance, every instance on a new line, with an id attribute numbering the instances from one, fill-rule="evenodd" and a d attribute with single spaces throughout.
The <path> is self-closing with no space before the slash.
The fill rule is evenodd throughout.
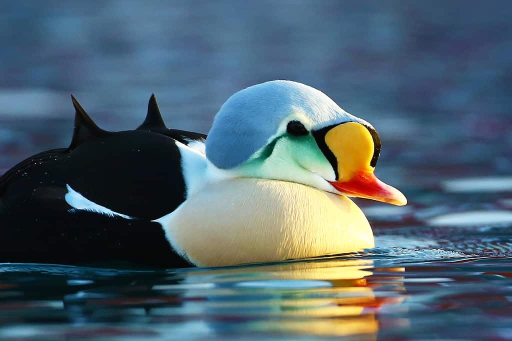
<path id="1" fill-rule="evenodd" d="M 374 246 L 350 199 L 302 184 L 228 179 L 206 184 L 157 220 L 169 242 L 199 266 L 315 257 Z"/>

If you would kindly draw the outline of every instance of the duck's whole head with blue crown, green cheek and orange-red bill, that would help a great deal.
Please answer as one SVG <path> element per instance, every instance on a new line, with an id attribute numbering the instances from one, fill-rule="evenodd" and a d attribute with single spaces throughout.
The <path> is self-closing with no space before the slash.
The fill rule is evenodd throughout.
<path id="1" fill-rule="evenodd" d="M 231 177 L 301 183 L 349 197 L 405 205 L 374 170 L 373 126 L 305 84 L 274 80 L 232 95 L 216 115 L 206 157 Z"/>

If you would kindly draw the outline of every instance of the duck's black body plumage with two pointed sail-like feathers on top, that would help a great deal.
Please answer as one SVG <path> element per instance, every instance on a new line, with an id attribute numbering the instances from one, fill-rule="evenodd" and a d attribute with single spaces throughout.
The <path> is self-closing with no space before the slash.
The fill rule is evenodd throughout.
<path id="1" fill-rule="evenodd" d="M 149 117 L 150 109 L 155 113 L 154 96 L 149 119 L 124 132 L 99 129 L 74 98 L 73 103 L 70 146 L 34 155 L 0 177 L 0 262 L 189 265 L 151 221 L 185 200 L 176 140 L 188 144 L 206 135 L 169 130 L 158 117 Z M 73 211 L 64 198 L 66 185 L 135 219 Z"/>

